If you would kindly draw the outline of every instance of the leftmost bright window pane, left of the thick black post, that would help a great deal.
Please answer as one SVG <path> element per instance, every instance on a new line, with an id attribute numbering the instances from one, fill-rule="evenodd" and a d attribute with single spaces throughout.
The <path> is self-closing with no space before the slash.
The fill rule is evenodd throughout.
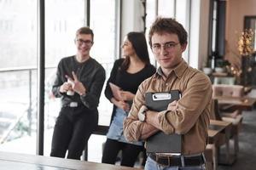
<path id="1" fill-rule="evenodd" d="M 0 1 L 0 11 L 0 150 L 35 154 L 37 1 Z"/>

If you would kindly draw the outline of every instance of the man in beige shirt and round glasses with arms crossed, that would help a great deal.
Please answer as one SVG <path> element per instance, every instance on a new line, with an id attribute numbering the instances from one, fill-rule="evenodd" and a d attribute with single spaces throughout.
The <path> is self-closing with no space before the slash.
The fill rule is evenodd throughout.
<path id="1" fill-rule="evenodd" d="M 157 18 L 149 31 L 149 44 L 160 64 L 156 73 L 142 82 L 129 116 L 124 122 L 125 138 L 146 140 L 162 131 L 182 135 L 180 154 L 150 153 L 145 169 L 204 169 L 203 151 L 207 145 L 207 127 L 212 99 L 209 78 L 182 58 L 187 47 L 187 32 L 176 20 Z M 177 89 L 182 97 L 168 105 L 166 111 L 149 111 L 145 93 L 170 92 Z"/>

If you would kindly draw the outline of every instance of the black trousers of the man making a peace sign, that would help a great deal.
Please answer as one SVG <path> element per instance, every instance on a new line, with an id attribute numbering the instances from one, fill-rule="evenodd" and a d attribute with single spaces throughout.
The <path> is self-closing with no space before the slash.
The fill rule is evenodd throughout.
<path id="1" fill-rule="evenodd" d="M 96 129 L 98 113 L 79 107 L 62 107 L 55 122 L 50 156 L 80 159 L 90 134 Z"/>

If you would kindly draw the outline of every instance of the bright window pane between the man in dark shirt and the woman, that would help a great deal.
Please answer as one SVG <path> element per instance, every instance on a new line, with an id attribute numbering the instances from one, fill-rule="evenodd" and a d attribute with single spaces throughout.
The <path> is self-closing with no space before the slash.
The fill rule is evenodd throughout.
<path id="1" fill-rule="evenodd" d="M 95 34 L 95 43 L 91 56 L 103 65 L 107 80 L 113 67 L 114 59 L 119 58 L 115 47 L 116 42 L 119 41 L 117 39 L 119 26 L 116 26 L 118 15 L 116 14 L 116 7 L 118 6 L 116 2 L 113 0 L 90 1 L 90 27 Z M 106 99 L 104 89 L 105 86 L 102 89 L 99 105 L 99 124 L 109 125 L 113 105 Z"/>

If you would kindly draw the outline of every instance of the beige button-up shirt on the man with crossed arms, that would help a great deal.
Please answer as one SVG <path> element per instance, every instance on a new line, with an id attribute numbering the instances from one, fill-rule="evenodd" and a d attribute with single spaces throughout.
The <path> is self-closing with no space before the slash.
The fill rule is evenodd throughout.
<path id="1" fill-rule="evenodd" d="M 130 141 L 141 138 L 144 122 L 138 120 L 137 113 L 145 105 L 145 93 L 168 92 L 174 89 L 182 94 L 177 101 L 177 110 L 158 112 L 158 122 L 166 134 L 183 134 L 183 155 L 201 153 L 207 145 L 212 83 L 204 73 L 190 67 L 184 60 L 166 79 L 159 68 L 152 77 L 142 82 L 124 122 L 125 138 Z"/>

